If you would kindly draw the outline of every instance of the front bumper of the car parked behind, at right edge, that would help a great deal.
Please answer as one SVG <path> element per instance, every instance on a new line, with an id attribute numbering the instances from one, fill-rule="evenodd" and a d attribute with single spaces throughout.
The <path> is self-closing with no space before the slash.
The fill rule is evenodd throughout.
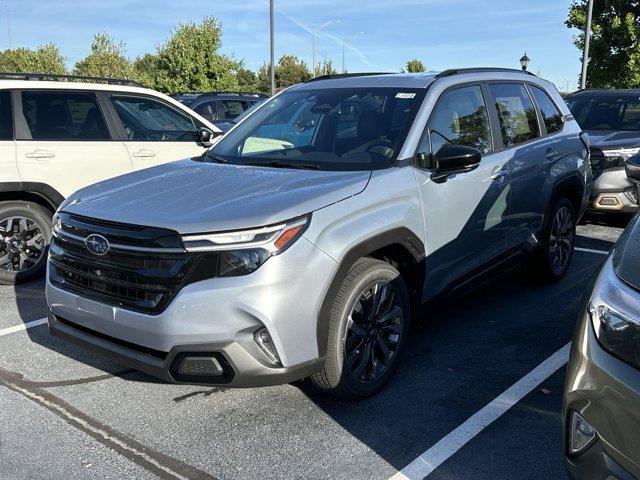
<path id="1" fill-rule="evenodd" d="M 614 167 L 603 171 L 594 179 L 589 209 L 633 213 L 639 209 L 637 198 L 638 187 L 627 178 L 624 167 Z"/>

